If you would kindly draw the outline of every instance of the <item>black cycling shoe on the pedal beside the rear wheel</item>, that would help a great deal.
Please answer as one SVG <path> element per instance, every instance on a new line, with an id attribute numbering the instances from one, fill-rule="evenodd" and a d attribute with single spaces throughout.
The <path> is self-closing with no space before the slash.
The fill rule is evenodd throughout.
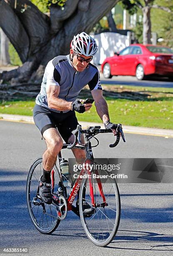
<path id="1" fill-rule="evenodd" d="M 51 184 L 42 182 L 41 178 L 42 176 L 39 179 L 39 195 L 43 202 L 50 205 L 52 203 Z"/>

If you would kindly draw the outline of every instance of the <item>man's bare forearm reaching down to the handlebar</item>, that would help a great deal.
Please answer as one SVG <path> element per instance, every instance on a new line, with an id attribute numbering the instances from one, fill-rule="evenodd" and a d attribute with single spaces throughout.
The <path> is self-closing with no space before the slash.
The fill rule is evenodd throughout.
<path id="1" fill-rule="evenodd" d="M 95 102 L 95 108 L 103 123 L 109 120 L 108 105 L 103 98 L 102 90 L 92 90 L 91 94 Z"/>

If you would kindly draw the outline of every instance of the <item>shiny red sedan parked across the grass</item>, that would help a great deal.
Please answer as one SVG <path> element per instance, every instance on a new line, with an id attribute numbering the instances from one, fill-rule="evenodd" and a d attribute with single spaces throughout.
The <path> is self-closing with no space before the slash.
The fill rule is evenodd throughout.
<path id="1" fill-rule="evenodd" d="M 105 78 L 120 75 L 142 80 L 146 75 L 158 74 L 173 79 L 173 51 L 164 46 L 131 44 L 106 58 L 101 67 Z"/>

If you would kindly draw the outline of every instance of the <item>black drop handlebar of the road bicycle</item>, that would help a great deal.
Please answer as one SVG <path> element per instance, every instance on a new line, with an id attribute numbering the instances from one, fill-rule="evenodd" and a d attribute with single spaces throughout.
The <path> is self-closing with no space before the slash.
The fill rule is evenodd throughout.
<path id="1" fill-rule="evenodd" d="M 122 125 L 120 123 L 115 124 L 116 126 L 116 131 L 117 131 L 117 139 L 115 141 L 115 143 L 110 144 L 110 148 L 114 148 L 118 145 L 118 143 L 120 142 L 120 136 L 122 137 L 123 141 L 125 142 L 125 137 L 124 137 L 124 133 L 123 133 L 123 128 Z M 68 149 L 74 148 L 77 144 L 77 141 L 80 143 L 80 137 L 81 137 L 81 133 L 83 134 L 90 134 L 91 136 L 94 136 L 95 134 L 98 133 L 112 133 L 113 131 L 111 129 L 100 129 L 100 126 L 93 126 L 93 127 L 89 127 L 86 130 L 82 130 L 81 125 L 77 125 L 77 128 L 72 131 L 72 133 L 75 136 L 75 140 L 73 142 L 72 145 L 68 146 Z"/>

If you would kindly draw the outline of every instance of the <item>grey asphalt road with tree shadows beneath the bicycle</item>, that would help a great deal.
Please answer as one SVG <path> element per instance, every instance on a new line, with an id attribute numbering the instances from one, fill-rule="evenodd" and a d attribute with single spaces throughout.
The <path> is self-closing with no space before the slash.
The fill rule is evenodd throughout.
<path id="1" fill-rule="evenodd" d="M 107 145 L 112 141 L 111 135 L 101 138 L 100 145 L 94 149 L 95 157 L 172 157 L 173 139 L 125 134 L 127 142 L 110 149 Z M 1 248 L 28 247 L 28 255 L 34 256 L 173 254 L 171 183 L 118 185 L 122 206 L 120 226 L 107 248 L 96 247 L 86 238 L 80 219 L 73 212 L 68 212 L 52 235 L 40 234 L 28 215 L 25 184 L 31 163 L 44 149 L 45 143 L 35 125 L 0 121 Z M 66 150 L 64 156 L 72 154 Z"/>

